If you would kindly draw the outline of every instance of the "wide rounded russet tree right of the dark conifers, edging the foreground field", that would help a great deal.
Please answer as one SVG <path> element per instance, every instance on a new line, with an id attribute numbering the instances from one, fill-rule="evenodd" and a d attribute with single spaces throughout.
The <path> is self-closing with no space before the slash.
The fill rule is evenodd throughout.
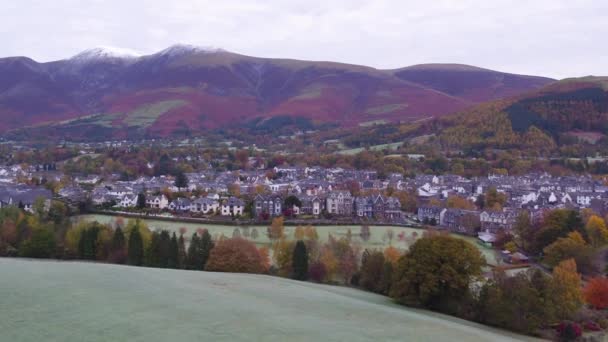
<path id="1" fill-rule="evenodd" d="M 220 240 L 211 250 L 205 270 L 263 273 L 264 262 L 255 245 L 243 238 Z"/>

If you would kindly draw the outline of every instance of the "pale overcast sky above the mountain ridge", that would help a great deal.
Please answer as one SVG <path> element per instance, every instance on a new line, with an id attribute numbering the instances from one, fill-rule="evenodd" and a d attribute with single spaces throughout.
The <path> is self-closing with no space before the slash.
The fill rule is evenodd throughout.
<path id="1" fill-rule="evenodd" d="M 0 56 L 175 43 L 377 68 L 465 63 L 555 78 L 608 75 L 607 0 L 7 0 Z"/>

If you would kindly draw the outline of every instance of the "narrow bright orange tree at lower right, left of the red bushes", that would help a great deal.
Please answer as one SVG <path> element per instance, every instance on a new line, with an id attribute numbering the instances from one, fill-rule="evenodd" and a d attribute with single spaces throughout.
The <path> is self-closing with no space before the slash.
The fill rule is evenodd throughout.
<path id="1" fill-rule="evenodd" d="M 553 269 L 550 294 L 558 319 L 570 319 L 581 308 L 581 275 L 574 259 L 564 260 Z"/>

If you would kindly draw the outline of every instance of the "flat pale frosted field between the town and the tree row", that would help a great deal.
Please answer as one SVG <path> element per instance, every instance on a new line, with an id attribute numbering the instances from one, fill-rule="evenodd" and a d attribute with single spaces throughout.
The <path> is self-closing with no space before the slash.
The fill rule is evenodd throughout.
<path id="1" fill-rule="evenodd" d="M 114 224 L 116 221 L 115 216 L 110 215 L 82 215 L 76 218 L 77 220 L 85 220 L 85 221 L 97 221 L 103 224 Z M 126 221 L 126 219 L 125 219 Z M 203 224 L 203 223 L 189 223 L 189 222 L 170 222 L 170 221 L 162 221 L 162 220 L 154 220 L 154 219 L 142 219 L 150 230 L 168 230 L 170 232 L 178 233 L 180 228 L 185 228 L 186 233 L 185 237 L 187 239 L 192 236 L 194 232 L 196 232 L 199 228 L 206 228 L 209 230 L 209 233 L 218 238 L 221 234 L 226 237 L 232 237 L 232 233 L 234 229 L 237 228 L 235 226 L 228 225 L 220 225 L 220 224 Z M 258 246 L 269 246 L 270 240 L 266 236 L 266 226 L 251 226 L 247 228 L 239 227 L 239 231 L 241 234 L 244 233 L 245 229 L 249 230 L 249 233 L 253 229 L 257 229 L 258 238 L 250 239 L 255 242 Z M 286 226 L 285 234 L 287 238 L 293 238 L 293 233 L 296 227 L 294 226 Z M 351 230 L 352 233 L 352 241 L 358 243 L 362 249 L 384 249 L 389 245 L 392 245 L 402 251 L 408 249 L 409 245 L 411 245 L 417 238 L 422 237 L 424 233 L 424 229 L 417 228 L 409 228 L 409 227 L 399 227 L 399 226 L 370 226 L 371 236 L 369 240 L 363 241 L 359 237 L 359 231 L 361 226 L 315 226 L 317 233 L 319 235 L 319 241 L 326 242 L 328 240 L 329 234 L 332 234 L 336 238 L 340 238 L 346 236 L 348 230 Z M 392 231 L 393 239 L 389 238 L 389 232 Z M 404 239 L 400 239 L 399 235 L 403 234 Z M 479 248 L 479 251 L 484 255 L 486 261 L 490 265 L 495 265 L 496 261 L 496 253 L 494 250 L 481 246 L 477 243 L 475 238 L 466 237 L 461 235 L 454 235 L 456 237 L 465 239 L 471 242 L 474 246 Z"/>

